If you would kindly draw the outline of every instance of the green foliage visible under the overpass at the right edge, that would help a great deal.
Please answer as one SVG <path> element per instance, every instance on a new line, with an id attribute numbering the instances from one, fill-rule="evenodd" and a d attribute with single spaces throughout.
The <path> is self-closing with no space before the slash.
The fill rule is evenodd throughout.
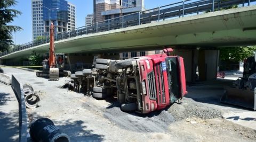
<path id="1" fill-rule="evenodd" d="M 242 61 L 244 58 L 254 55 L 254 51 L 256 51 L 256 46 L 227 47 L 220 48 L 219 50 L 221 60 Z"/>

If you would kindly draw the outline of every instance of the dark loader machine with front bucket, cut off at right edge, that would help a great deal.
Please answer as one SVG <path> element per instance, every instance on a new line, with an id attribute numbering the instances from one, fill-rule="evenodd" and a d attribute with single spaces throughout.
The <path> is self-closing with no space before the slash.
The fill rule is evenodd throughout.
<path id="1" fill-rule="evenodd" d="M 225 87 L 220 102 L 256 110 L 256 54 L 244 60 L 243 77 Z"/>

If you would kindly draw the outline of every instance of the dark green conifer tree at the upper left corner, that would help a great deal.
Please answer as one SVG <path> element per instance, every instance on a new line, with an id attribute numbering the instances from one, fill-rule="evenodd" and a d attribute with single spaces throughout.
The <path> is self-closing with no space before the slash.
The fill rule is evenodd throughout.
<path id="1" fill-rule="evenodd" d="M 22 28 L 15 25 L 7 25 L 11 23 L 14 17 L 17 17 L 21 12 L 9 7 L 16 5 L 14 0 L 0 1 L 0 52 L 9 51 L 13 45 L 12 32 L 20 31 Z"/>

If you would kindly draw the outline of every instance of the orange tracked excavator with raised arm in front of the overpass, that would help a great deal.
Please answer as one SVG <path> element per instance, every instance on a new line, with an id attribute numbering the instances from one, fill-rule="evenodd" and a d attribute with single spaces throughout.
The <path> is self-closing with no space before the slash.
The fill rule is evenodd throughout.
<path id="1" fill-rule="evenodd" d="M 37 77 L 49 77 L 50 81 L 57 81 L 60 76 L 69 76 L 71 74 L 70 71 L 63 70 L 65 55 L 55 54 L 54 50 L 54 25 L 53 22 L 51 22 L 49 59 L 46 58 L 43 60 L 43 71 L 36 72 Z"/>

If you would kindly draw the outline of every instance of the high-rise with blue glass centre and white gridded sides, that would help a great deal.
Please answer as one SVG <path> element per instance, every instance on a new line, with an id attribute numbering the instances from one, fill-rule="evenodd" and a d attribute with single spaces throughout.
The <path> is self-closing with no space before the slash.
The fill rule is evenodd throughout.
<path id="1" fill-rule="evenodd" d="M 49 24 L 54 23 L 55 33 L 76 26 L 76 7 L 65 0 L 31 0 L 33 39 L 49 36 Z"/>

